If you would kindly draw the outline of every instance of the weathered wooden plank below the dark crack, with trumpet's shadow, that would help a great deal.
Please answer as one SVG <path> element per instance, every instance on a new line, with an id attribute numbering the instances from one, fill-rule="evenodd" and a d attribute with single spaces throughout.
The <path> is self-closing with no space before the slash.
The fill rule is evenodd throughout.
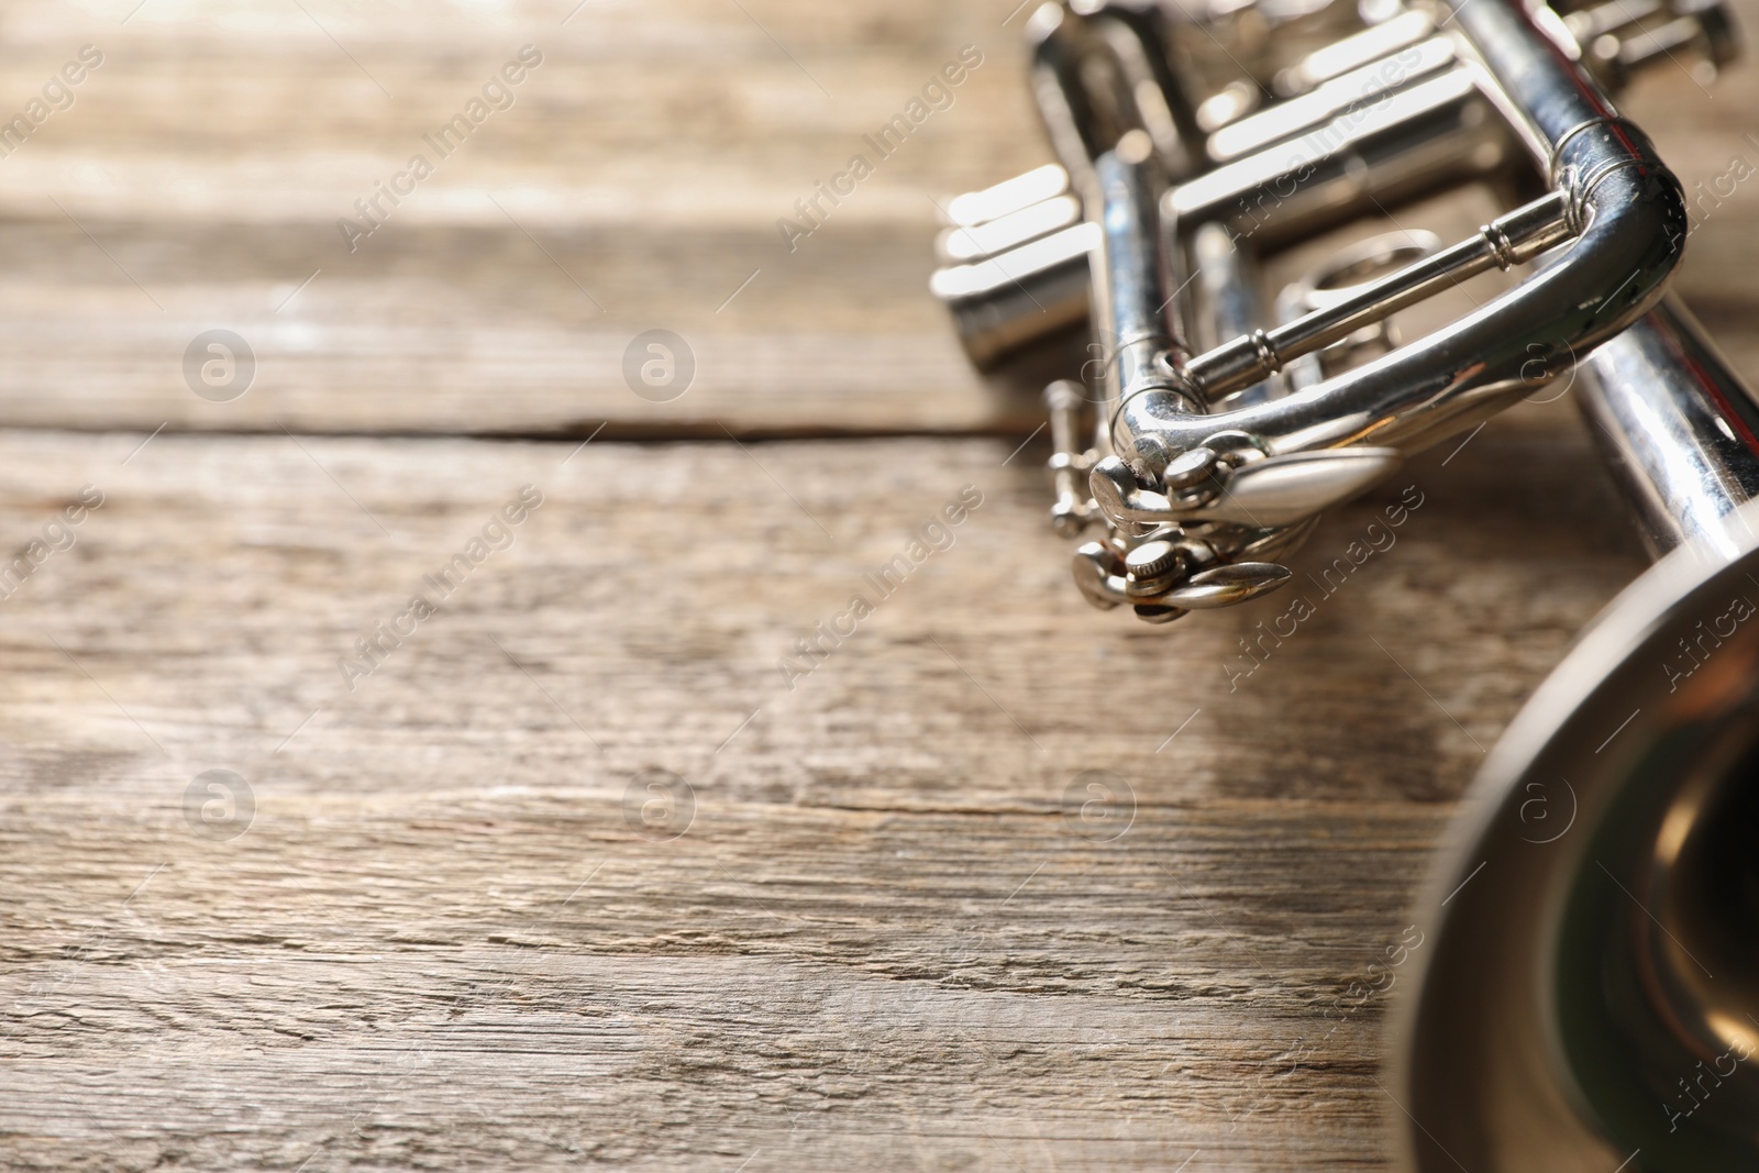
<path id="1" fill-rule="evenodd" d="M 1397 545 L 1235 693 L 1284 603 L 1087 610 L 1004 441 L 0 436 L 9 542 L 106 494 L 0 603 L 0 1162 L 1383 1168 L 1384 1004 L 1328 1008 L 1641 563 L 1562 406 L 1418 464 Z M 656 767 L 695 795 L 668 842 Z M 236 839 L 192 828 L 209 769 L 255 795 Z"/>

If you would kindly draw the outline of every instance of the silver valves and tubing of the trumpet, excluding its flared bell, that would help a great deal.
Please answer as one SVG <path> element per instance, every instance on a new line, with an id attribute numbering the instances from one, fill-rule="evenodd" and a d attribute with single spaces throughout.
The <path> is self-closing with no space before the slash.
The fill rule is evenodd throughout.
<path id="1" fill-rule="evenodd" d="M 1733 39 L 1719 11 L 1682 4 L 1652 16 L 1701 28 L 1708 60 L 1726 60 Z M 1400 454 L 1569 373 L 1643 318 L 1678 264 L 1680 185 L 1611 107 L 1597 81 L 1606 70 L 1587 69 L 1571 21 L 1514 0 L 1363 11 L 1374 19 L 1353 35 L 1208 98 L 1196 91 L 1193 46 L 1157 11 L 1089 0 L 1043 4 L 1029 18 L 1034 95 L 1068 192 L 1020 179 L 1015 188 L 1036 190 L 1011 202 L 962 197 L 989 218 L 953 216 L 943 255 L 966 264 L 939 269 L 932 287 L 980 364 L 1064 327 L 1085 292 L 1091 503 L 1068 499 L 1075 457 L 1089 448 L 1059 447 L 1054 521 L 1066 533 L 1106 529 L 1110 554 L 1077 572 L 1091 601 L 1112 600 L 1096 584 L 1136 542 L 1200 542 L 1219 563 L 1256 561 L 1249 552 L 1279 545 L 1277 531 L 1293 545 L 1296 529 Z M 1571 18 L 1602 51 L 1648 28 L 1601 9 Z M 1673 42 L 1687 44 L 1683 33 Z M 1223 56 L 1240 65 L 1226 46 Z M 1221 95 L 1233 95 L 1224 107 L 1212 100 Z M 1309 290 L 1298 313 L 1256 320 L 1251 283 L 1266 250 L 1481 174 L 1543 193 L 1453 246 L 1325 297 Z M 1068 223 L 1071 202 L 1085 223 Z M 1523 280 L 1448 329 L 1398 343 L 1390 318 L 1490 269 Z M 1293 304 L 1279 299 L 1279 310 Z M 1602 422 L 1618 431 L 1611 415 Z M 1372 452 L 1284 464 L 1354 448 Z M 1210 478 L 1170 487 L 1168 466 L 1201 450 L 1219 457 Z M 1205 570 L 1193 563 L 1189 573 Z M 1138 614 L 1166 619 L 1152 603 Z"/>

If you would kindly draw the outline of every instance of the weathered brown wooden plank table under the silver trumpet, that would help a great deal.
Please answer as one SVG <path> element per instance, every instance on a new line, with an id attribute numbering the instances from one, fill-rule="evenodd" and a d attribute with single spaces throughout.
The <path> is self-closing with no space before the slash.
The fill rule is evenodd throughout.
<path id="1" fill-rule="evenodd" d="M 1047 157 L 1011 4 L 570 7 L 4 14 L 5 111 L 102 63 L 0 160 L 0 1162 L 1384 1168 L 1384 999 L 1328 1008 L 1643 565 L 1567 399 L 1328 517 L 1302 575 L 1421 498 L 1261 663 L 1275 600 L 1096 614 L 1036 389 L 923 292 L 932 200 Z M 1690 188 L 1755 98 L 1627 109 Z M 1755 192 L 1680 283 L 1750 373 Z M 192 394 L 213 329 L 241 397 Z"/>

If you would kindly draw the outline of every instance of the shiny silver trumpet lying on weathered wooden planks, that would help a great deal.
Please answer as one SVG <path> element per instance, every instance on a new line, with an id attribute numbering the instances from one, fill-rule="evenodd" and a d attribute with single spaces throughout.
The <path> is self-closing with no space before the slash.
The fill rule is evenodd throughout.
<path id="1" fill-rule="evenodd" d="M 1558 378 L 1659 557 L 1430 878 L 1404 1168 L 1759 1169 L 1759 401 L 1668 295 L 1685 193 L 1608 98 L 1655 62 L 1708 79 L 1727 14 L 1073 0 L 1029 39 L 1059 162 L 946 204 L 932 290 L 985 368 L 1091 322 L 1045 394 L 1091 603 L 1166 623 L 1275 591 L 1323 510 Z M 1467 181 L 1506 206 L 1476 234 L 1381 236 L 1259 295 L 1275 253 Z M 1506 292 L 1400 338 L 1486 271 Z"/>

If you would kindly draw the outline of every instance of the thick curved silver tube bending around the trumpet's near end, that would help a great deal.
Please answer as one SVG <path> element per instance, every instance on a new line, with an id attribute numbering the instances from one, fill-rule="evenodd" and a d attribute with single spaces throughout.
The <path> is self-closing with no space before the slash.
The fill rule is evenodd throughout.
<path id="1" fill-rule="evenodd" d="M 1187 394 L 1150 380 L 1124 385 L 1112 441 L 1135 468 L 1157 477 L 1168 459 L 1219 431 L 1256 436 L 1272 455 L 1356 443 L 1414 452 L 1562 375 L 1660 299 L 1687 229 L 1678 179 L 1525 11 L 1507 0 L 1465 0 L 1455 19 L 1462 53 L 1476 53 L 1492 81 L 1486 97 L 1495 93 L 1567 202 L 1576 237 L 1569 251 L 1451 327 L 1284 399 L 1207 415 L 1189 410 Z M 1244 385 L 1277 369 L 1263 338 L 1191 359 L 1191 383 L 1203 392 L 1207 371 Z"/>

